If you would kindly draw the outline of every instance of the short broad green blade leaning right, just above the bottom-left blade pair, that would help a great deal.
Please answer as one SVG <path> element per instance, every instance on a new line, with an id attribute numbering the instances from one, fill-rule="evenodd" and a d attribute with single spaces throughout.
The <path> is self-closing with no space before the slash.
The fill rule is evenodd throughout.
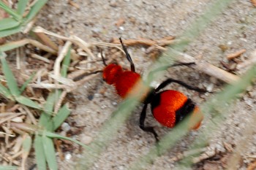
<path id="1" fill-rule="evenodd" d="M 65 104 L 63 107 L 61 107 L 56 116 L 53 117 L 53 131 L 59 128 L 59 126 L 64 122 L 64 120 L 67 119 L 69 114 L 70 109 L 67 107 L 67 104 Z"/>

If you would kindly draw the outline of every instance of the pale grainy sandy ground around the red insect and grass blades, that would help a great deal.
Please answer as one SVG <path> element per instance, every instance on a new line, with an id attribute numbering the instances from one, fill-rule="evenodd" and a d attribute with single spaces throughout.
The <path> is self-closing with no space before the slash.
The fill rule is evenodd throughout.
<path id="1" fill-rule="evenodd" d="M 119 36 L 123 39 L 138 37 L 160 39 L 165 36 L 180 35 L 211 3 L 206 0 L 78 0 L 72 2 L 78 7 L 70 4 L 69 1 L 49 1 L 40 12 L 36 25 L 65 36 L 74 34 L 86 42 L 109 42 L 113 37 Z M 219 15 L 217 20 L 187 47 L 186 53 L 195 57 L 200 55 L 202 61 L 208 61 L 222 69 L 225 68 L 220 62 L 227 62 L 225 56 L 229 53 L 246 49 L 242 58 L 248 59 L 250 53 L 256 49 L 255 18 L 256 9 L 249 1 L 233 1 L 225 12 L 222 12 L 222 15 Z M 120 26 L 116 26 L 118 24 Z M 221 47 L 227 47 L 227 49 L 223 51 Z M 145 50 L 145 47 L 129 47 L 129 53 L 140 73 L 143 73 L 154 62 L 154 58 L 148 57 Z M 124 55 L 121 55 L 117 61 L 129 67 L 127 61 L 124 60 Z M 243 70 L 233 73 L 240 74 L 240 72 Z M 167 77 L 176 78 L 200 88 L 211 86 L 213 91 L 218 91 L 225 85 L 219 80 L 189 68 L 169 69 L 162 80 Z M 213 95 L 199 95 L 178 85 L 170 85 L 168 88 L 181 90 L 197 104 L 207 101 Z M 67 123 L 75 122 L 78 126 L 84 126 L 80 134 L 74 136 L 78 140 L 86 140 L 89 137 L 94 139 L 102 124 L 121 103 L 121 98 L 117 96 L 114 88 L 103 82 L 101 75 L 76 90 L 73 97 L 76 108 L 72 110 Z M 253 86 L 241 99 L 234 101 L 229 111 L 231 114 L 225 117 L 225 123 L 220 130 L 213 130 L 212 137 L 206 139 L 209 143 L 207 150 L 216 151 L 213 154 L 214 158 L 199 161 L 195 169 L 223 169 L 225 167 L 225 158 L 228 157 L 230 151 L 236 150 L 237 144 L 244 139 L 246 125 L 252 124 L 250 120 L 256 113 L 255 98 L 255 86 Z M 118 130 L 118 135 L 99 156 L 92 169 L 126 169 L 129 163 L 140 158 L 140 155 L 146 154 L 154 145 L 153 136 L 141 131 L 138 127 L 141 109 L 141 106 L 135 109 L 132 117 Z M 155 125 L 160 136 L 169 131 L 155 122 L 151 115 L 148 117 L 147 123 Z M 242 155 L 237 169 L 246 169 L 246 166 L 255 160 L 253 159 L 256 155 L 255 132 L 251 139 L 246 139 L 245 144 L 242 145 L 243 148 L 236 151 L 241 152 Z M 176 162 L 172 159 L 177 153 L 184 152 L 196 136 L 197 132 L 190 133 L 173 150 L 157 158 L 146 169 L 173 169 Z M 227 146 L 231 147 L 230 151 L 227 150 Z M 75 161 L 80 158 L 80 150 L 75 147 L 74 150 L 64 152 L 64 154 L 64 161 L 59 161 L 60 169 L 74 169 Z"/>

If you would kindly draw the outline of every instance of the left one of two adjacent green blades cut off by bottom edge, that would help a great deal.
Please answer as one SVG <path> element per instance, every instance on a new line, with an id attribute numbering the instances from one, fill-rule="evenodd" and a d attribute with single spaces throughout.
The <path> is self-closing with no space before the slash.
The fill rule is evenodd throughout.
<path id="1" fill-rule="evenodd" d="M 34 150 L 36 154 L 37 169 L 46 170 L 45 151 L 42 145 L 42 136 L 36 135 L 34 139 Z"/>

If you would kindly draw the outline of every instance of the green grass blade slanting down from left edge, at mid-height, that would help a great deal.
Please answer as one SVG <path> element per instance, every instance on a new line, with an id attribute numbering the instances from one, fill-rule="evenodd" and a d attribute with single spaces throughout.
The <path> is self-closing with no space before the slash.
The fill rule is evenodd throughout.
<path id="1" fill-rule="evenodd" d="M 7 80 L 7 86 L 10 89 L 10 92 L 12 93 L 13 96 L 19 96 L 20 91 L 19 91 L 17 82 L 15 80 L 15 77 L 12 74 L 12 71 L 7 64 L 7 61 L 5 60 L 3 53 L 1 52 L 0 52 L 0 60 L 2 64 L 2 70 L 4 72 L 4 77 Z"/>

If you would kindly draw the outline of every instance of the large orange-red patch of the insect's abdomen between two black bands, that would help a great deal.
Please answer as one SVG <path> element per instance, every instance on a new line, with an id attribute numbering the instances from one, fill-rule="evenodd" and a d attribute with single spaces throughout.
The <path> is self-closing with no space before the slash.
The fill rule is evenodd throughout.
<path id="1" fill-rule="evenodd" d="M 158 93 L 152 113 L 154 118 L 167 128 L 173 128 L 176 123 L 176 111 L 187 101 L 187 96 L 176 90 L 165 90 Z"/>

